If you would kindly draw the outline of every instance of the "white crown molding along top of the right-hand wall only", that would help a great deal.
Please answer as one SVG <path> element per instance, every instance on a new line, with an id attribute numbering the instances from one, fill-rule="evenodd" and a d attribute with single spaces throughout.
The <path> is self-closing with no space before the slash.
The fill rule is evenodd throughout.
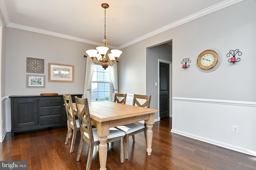
<path id="1" fill-rule="evenodd" d="M 136 39 L 134 39 L 134 40 L 132 40 L 132 41 L 130 41 L 128 43 L 120 45 L 118 47 L 118 49 L 122 49 L 124 47 L 128 47 L 128 46 L 130 46 L 132 44 L 138 43 L 139 41 L 142 41 L 144 39 L 152 37 L 152 36 L 154 36 L 156 34 L 159 34 L 159 33 L 162 33 L 164 31 L 167 31 L 168 29 L 172 29 L 174 27 L 177 27 L 178 25 L 182 25 L 182 24 L 184 24 L 186 22 L 195 20 L 196 18 L 200 18 L 202 16 L 205 16 L 205 15 L 210 14 L 212 12 L 218 11 L 218 10 L 220 10 L 222 8 L 226 8 L 226 7 L 230 6 L 230 5 L 236 4 L 236 3 L 241 2 L 241 1 L 243 1 L 243 0 L 226 0 L 226 1 L 220 2 L 218 4 L 215 4 L 214 6 L 210 6 L 209 8 L 206 8 L 206 9 L 201 10 L 199 12 L 196 12 L 196 13 L 190 15 L 190 16 L 187 16 L 187 17 L 182 18 L 182 19 L 180 19 L 178 21 L 170 23 L 170 24 L 168 24 L 168 25 L 166 25 L 164 27 L 156 29 L 155 31 L 152 31 L 152 32 L 150 32 L 148 34 L 145 34 L 145 35 L 143 35 L 143 36 L 141 36 L 139 38 L 136 38 Z"/>

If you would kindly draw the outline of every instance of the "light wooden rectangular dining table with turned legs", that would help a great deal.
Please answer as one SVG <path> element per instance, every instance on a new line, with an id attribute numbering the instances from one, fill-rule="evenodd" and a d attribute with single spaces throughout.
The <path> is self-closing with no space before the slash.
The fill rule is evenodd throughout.
<path id="1" fill-rule="evenodd" d="M 154 113 L 157 109 L 120 104 L 110 101 L 88 102 L 92 125 L 97 127 L 99 136 L 99 160 L 100 170 L 106 170 L 108 145 L 106 143 L 109 135 L 109 128 L 126 125 L 138 121 L 145 121 L 146 124 L 146 152 L 151 155 L 152 149 L 152 127 L 154 124 Z M 73 103 L 76 112 L 76 104 Z M 84 105 L 78 107 L 83 108 Z"/>

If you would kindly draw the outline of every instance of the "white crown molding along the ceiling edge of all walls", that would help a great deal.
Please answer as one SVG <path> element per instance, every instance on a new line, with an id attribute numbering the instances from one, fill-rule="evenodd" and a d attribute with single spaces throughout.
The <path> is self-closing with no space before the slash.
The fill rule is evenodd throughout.
<path id="1" fill-rule="evenodd" d="M 241 2 L 241 1 L 243 1 L 243 0 L 225 0 L 223 2 L 220 2 L 218 4 L 210 6 L 209 8 L 206 8 L 204 10 L 196 12 L 196 13 L 190 15 L 190 16 L 182 18 L 181 20 L 175 21 L 175 22 L 170 23 L 170 24 L 168 24 L 164 27 L 156 29 L 155 31 L 152 31 L 148 34 L 145 34 L 145 35 L 141 36 L 141 37 L 138 37 L 138 38 L 136 38 L 136 39 L 134 39 L 134 40 L 132 40 L 128 43 L 124 43 L 123 45 L 120 45 L 119 47 L 115 47 L 115 46 L 111 46 L 111 45 L 108 45 L 108 47 L 111 48 L 111 49 L 122 49 L 124 47 L 128 47 L 132 44 L 138 43 L 139 41 L 142 41 L 144 39 L 152 37 L 156 34 L 167 31 L 168 29 L 172 29 L 174 27 L 177 27 L 178 25 L 182 25 L 186 22 L 195 20 L 196 18 L 200 18 L 202 16 L 205 16 L 207 14 L 210 14 L 210 13 L 215 12 L 217 10 L 220 10 L 222 8 L 226 8 L 230 5 L 236 4 L 236 3 Z M 47 31 L 47 30 L 44 30 L 44 29 L 38 29 L 38 28 L 34 28 L 34 27 L 29 27 L 29 26 L 25 26 L 25 25 L 16 24 L 16 23 L 11 23 L 10 20 L 9 20 L 9 16 L 8 16 L 8 12 L 6 10 L 6 5 L 4 3 L 4 0 L 0 0 L 0 9 L 2 11 L 4 21 L 5 21 L 7 27 L 13 27 L 13 28 L 17 28 L 17 29 L 23 29 L 23 30 L 26 30 L 26 31 L 42 33 L 42 34 L 46 34 L 46 35 L 51 35 L 51 36 L 55 36 L 55 37 L 70 39 L 70 40 L 79 41 L 79 42 L 82 42 L 82 43 L 88 43 L 88 44 L 92 44 L 92 45 L 98 45 L 98 46 L 102 45 L 102 43 L 95 42 L 95 41 L 90 41 L 90 40 L 86 40 L 86 39 L 82 39 L 82 38 L 78 38 L 78 37 L 73 37 L 73 36 L 70 36 L 70 35 L 65 35 L 65 34 L 61 34 L 61 33 Z"/>

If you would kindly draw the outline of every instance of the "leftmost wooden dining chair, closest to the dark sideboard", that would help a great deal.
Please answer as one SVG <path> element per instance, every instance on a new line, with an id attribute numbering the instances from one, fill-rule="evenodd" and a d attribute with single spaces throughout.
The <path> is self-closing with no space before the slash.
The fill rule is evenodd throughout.
<path id="1" fill-rule="evenodd" d="M 67 118 L 68 118 L 67 120 L 68 132 L 66 136 L 65 145 L 68 144 L 69 135 L 72 133 L 72 130 L 73 130 L 71 147 L 70 147 L 70 153 L 72 153 L 74 150 L 75 142 L 76 142 L 76 133 L 77 131 L 80 130 L 80 126 L 78 123 L 78 119 L 76 119 L 74 114 L 71 95 L 63 95 L 63 99 L 64 99 L 65 109 L 66 109 Z"/>

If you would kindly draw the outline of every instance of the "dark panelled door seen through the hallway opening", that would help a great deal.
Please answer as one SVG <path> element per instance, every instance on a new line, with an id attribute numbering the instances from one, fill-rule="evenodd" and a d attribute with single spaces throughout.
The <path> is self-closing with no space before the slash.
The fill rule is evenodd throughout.
<path id="1" fill-rule="evenodd" d="M 169 117 L 169 64 L 160 63 L 159 67 L 160 118 Z"/>

